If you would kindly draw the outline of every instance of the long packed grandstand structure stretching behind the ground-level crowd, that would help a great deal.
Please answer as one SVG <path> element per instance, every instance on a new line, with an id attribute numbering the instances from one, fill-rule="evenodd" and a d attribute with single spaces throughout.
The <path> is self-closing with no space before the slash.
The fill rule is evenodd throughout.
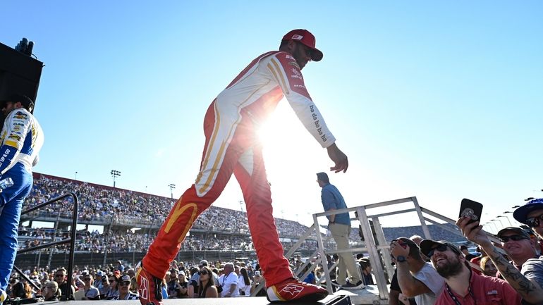
<path id="1" fill-rule="evenodd" d="M 169 213 L 175 200 L 152 194 L 118 189 L 88 182 L 34 173 L 34 187 L 25 201 L 24 209 L 41 204 L 66 192 L 78 196 L 80 208 L 78 223 L 85 225 L 79 230 L 75 244 L 76 265 L 105 265 L 123 260 L 139 261 L 152 242 L 154 235 Z M 71 225 L 73 199 L 57 201 L 39 211 L 21 218 L 19 247 L 25 249 L 44 242 L 66 239 Z M 226 221 L 228 220 L 228 221 Z M 32 228 L 32 223 L 47 222 L 54 228 Z M 288 250 L 308 228 L 293 220 L 275 218 L 283 247 Z M 228 227 L 226 227 L 228 223 Z M 24 224 L 24 226 L 23 226 Z M 102 230 L 90 232 L 88 226 Z M 387 240 L 411 235 L 423 235 L 420 226 L 384 228 Z M 460 237 L 435 225 L 429 225 L 432 237 L 453 242 Z M 99 232 L 102 231 L 102 232 Z M 353 244 L 362 244 L 358 228 L 351 232 Z M 462 239 L 460 239 L 462 240 Z M 330 239 L 329 242 L 333 243 Z M 327 245 L 334 247 L 333 244 Z M 66 266 L 68 245 L 55 249 L 42 249 L 18 256 L 18 266 Z M 300 247 L 303 256 L 317 249 L 315 233 Z M 181 245 L 178 260 L 255 258 L 245 212 L 211 206 L 197 218 L 189 236 Z"/>

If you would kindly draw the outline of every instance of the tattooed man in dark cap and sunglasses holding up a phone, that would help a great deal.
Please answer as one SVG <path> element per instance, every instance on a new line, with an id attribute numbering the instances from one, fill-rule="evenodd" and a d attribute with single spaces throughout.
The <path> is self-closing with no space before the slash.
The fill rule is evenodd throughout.
<path id="1" fill-rule="evenodd" d="M 535 210 L 525 212 L 526 213 L 517 213 L 517 211 L 515 211 L 517 216 L 530 215 L 532 218 L 535 217 Z M 515 219 L 517 219 L 517 217 L 515 217 Z M 471 218 L 461 217 L 456 221 L 456 225 L 458 225 L 462 234 L 471 242 L 479 244 L 482 249 L 487 252 L 494 265 L 498 267 L 499 273 L 501 273 L 504 279 L 507 280 L 513 289 L 523 298 L 523 303 L 543 304 L 543 257 L 540 256 L 539 259 L 528 259 L 523 263 L 522 269 L 518 270 L 518 268 L 515 268 L 513 264 L 509 263 L 501 252 L 494 247 L 492 242 L 490 242 L 487 233 L 482 230 L 482 225 L 480 225 L 478 221 L 470 223 L 470 220 Z M 522 230 L 520 228 L 518 229 Z M 511 230 L 509 231 L 511 232 Z M 527 233 L 525 234 L 527 235 Z M 523 241 L 522 234 L 513 237 L 510 233 L 506 235 L 502 232 L 500 236 L 501 242 L 504 243 Z"/>

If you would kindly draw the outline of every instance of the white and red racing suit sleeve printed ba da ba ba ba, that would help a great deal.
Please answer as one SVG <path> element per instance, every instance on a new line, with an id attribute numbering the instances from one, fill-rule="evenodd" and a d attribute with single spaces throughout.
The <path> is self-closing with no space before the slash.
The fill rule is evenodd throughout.
<path id="1" fill-rule="evenodd" d="M 319 109 L 307 92 L 300 66 L 293 56 L 286 52 L 276 53 L 269 57 L 267 68 L 307 131 L 324 148 L 334 144 L 336 138 L 331 134 Z"/>

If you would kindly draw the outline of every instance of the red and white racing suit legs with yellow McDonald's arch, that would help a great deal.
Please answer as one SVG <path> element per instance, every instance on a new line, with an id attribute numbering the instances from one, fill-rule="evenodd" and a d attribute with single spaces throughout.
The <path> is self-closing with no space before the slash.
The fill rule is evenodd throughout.
<path id="1" fill-rule="evenodd" d="M 232 173 L 243 192 L 252 242 L 267 286 L 293 277 L 272 215 L 262 147 L 249 116 L 243 110 L 240 113 L 241 117 L 228 118 L 215 102 L 207 110 L 197 180 L 173 206 L 143 258 L 144 268 L 157 278 L 164 278 L 193 222 L 219 197 Z"/>

